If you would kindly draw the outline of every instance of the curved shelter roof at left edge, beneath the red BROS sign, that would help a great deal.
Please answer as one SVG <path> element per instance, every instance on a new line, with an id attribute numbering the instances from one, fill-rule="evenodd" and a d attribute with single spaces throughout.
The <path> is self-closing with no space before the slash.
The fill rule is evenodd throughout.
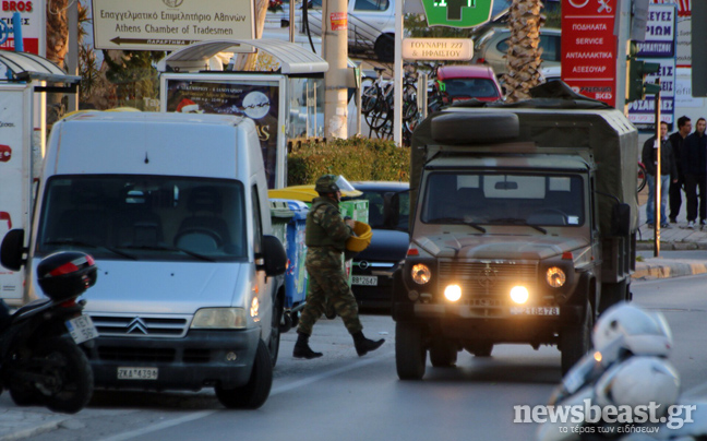
<path id="1" fill-rule="evenodd" d="M 35 53 L 0 50 L 0 63 L 8 68 L 10 81 L 39 80 L 70 84 L 81 82 L 81 76 L 68 75 L 57 64 Z"/>

